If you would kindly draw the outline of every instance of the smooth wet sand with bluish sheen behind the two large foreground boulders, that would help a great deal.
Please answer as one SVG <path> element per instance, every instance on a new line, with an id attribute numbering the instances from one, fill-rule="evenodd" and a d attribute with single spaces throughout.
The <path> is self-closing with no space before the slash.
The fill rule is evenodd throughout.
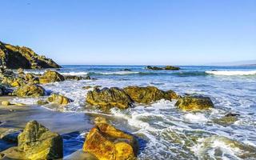
<path id="1" fill-rule="evenodd" d="M 1 97 L 3 100 L 10 97 Z M 22 130 L 26 122 L 36 120 L 53 132 L 62 135 L 64 142 L 64 156 L 70 156 L 75 151 L 81 150 L 84 134 L 93 127 L 93 118 L 83 113 L 63 113 L 47 110 L 41 106 L 2 106 L 0 105 L 0 128 Z M 0 151 L 6 150 L 14 144 L 0 142 Z M 65 158 L 66 159 L 66 158 Z"/>

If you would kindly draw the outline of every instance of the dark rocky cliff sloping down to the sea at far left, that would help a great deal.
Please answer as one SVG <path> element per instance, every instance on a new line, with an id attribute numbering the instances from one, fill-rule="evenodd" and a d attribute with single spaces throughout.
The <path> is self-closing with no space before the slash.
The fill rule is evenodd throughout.
<path id="1" fill-rule="evenodd" d="M 56 62 L 34 53 L 25 46 L 12 46 L 0 42 L 0 66 L 8 69 L 60 68 Z"/>

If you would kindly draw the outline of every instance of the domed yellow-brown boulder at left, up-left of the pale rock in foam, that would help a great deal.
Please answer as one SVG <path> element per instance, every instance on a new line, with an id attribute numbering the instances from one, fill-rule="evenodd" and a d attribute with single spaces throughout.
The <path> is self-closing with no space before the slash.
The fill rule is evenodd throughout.
<path id="1" fill-rule="evenodd" d="M 42 88 L 42 86 L 29 83 L 18 87 L 18 89 L 14 90 L 13 94 L 17 95 L 18 97 L 38 97 L 43 96 L 45 94 L 45 90 Z"/>

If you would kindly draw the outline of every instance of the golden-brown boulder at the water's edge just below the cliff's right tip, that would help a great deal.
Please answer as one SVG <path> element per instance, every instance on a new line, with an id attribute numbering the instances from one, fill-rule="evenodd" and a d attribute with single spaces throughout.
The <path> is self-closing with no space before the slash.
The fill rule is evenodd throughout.
<path id="1" fill-rule="evenodd" d="M 39 77 L 39 83 L 41 84 L 46 84 L 50 82 L 61 82 L 64 80 L 65 78 L 62 76 L 62 74 L 59 74 L 54 70 L 46 70 L 46 72 Z"/>

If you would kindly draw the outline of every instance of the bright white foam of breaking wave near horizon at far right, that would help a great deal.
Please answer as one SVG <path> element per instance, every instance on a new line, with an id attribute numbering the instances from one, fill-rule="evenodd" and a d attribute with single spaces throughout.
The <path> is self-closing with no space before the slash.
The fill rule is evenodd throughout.
<path id="1" fill-rule="evenodd" d="M 256 70 L 216 70 L 216 71 L 206 71 L 206 74 L 214 75 L 254 75 Z"/>

